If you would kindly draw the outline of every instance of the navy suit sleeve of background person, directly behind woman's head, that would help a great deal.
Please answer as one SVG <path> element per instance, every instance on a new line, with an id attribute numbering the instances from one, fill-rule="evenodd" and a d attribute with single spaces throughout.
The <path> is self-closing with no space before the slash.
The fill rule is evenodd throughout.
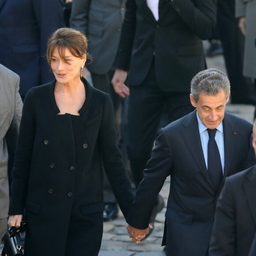
<path id="1" fill-rule="evenodd" d="M 53 32 L 65 26 L 63 0 L 32 0 L 34 13 L 38 22 L 41 55 L 41 84 L 54 79 L 46 60 L 47 41 Z M 36 85 L 35 85 L 36 86 Z"/>

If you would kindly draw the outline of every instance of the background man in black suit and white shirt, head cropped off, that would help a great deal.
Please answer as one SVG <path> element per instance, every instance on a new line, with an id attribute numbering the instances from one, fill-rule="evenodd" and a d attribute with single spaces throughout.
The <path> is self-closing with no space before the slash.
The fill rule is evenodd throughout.
<path id="1" fill-rule="evenodd" d="M 214 30 L 215 5 L 215 0 L 126 3 L 112 83 L 121 97 L 130 94 L 128 157 L 136 186 L 150 158 L 163 105 L 169 122 L 194 110 L 189 83 L 205 69 L 202 39 Z M 124 85 L 127 71 L 129 88 Z"/>

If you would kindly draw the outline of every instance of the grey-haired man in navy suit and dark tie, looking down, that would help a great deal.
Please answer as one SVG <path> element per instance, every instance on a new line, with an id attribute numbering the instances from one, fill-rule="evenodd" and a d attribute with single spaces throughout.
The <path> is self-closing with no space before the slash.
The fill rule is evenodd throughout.
<path id="1" fill-rule="evenodd" d="M 218 195 L 227 176 L 245 169 L 252 133 L 252 124 L 225 112 L 229 97 L 229 80 L 218 69 L 192 79 L 190 100 L 196 110 L 162 128 L 156 139 L 126 218 L 132 241 L 148 232 L 154 199 L 170 175 L 166 254 L 207 255 Z"/>

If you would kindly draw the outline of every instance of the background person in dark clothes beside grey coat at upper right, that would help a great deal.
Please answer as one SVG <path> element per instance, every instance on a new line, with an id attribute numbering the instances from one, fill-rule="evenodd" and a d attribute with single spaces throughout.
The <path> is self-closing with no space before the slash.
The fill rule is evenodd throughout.
<path id="1" fill-rule="evenodd" d="M 232 87 L 232 104 L 255 105 L 252 79 L 243 75 L 245 37 L 235 17 L 235 0 L 217 0 L 217 25 L 226 70 Z"/>

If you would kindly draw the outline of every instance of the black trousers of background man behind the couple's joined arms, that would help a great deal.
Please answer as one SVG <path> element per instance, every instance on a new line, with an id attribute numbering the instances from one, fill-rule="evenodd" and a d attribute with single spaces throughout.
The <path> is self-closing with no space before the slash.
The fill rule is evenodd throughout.
<path id="1" fill-rule="evenodd" d="M 168 123 L 194 110 L 190 103 L 189 92 L 171 93 L 159 87 L 153 58 L 151 68 L 143 83 L 139 86 L 130 85 L 127 129 L 128 158 L 136 187 L 142 181 L 143 170 L 150 159 L 163 107 L 166 109 Z"/>

